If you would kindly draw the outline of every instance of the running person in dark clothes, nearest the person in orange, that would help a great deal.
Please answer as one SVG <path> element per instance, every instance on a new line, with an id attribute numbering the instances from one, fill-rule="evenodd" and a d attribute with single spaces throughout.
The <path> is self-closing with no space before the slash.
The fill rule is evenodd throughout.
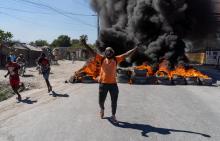
<path id="1" fill-rule="evenodd" d="M 45 53 L 42 53 L 39 60 L 38 60 L 38 65 L 41 66 L 41 72 L 43 74 L 43 77 L 46 81 L 47 88 L 48 88 L 48 93 L 52 91 L 52 86 L 50 85 L 49 81 L 49 75 L 50 75 L 50 62 L 46 58 Z"/>

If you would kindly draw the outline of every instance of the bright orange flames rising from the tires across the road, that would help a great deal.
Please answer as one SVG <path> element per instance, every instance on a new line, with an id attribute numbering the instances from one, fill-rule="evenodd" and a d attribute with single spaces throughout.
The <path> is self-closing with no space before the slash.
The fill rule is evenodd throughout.
<path id="1" fill-rule="evenodd" d="M 78 80 L 82 79 L 83 75 L 91 76 L 94 80 L 97 79 L 100 73 L 100 64 L 97 63 L 95 58 L 90 59 L 80 70 L 75 72 L 74 77 Z M 201 73 L 196 69 L 186 69 L 183 65 L 178 65 L 174 70 L 169 70 L 168 61 L 164 60 L 160 65 L 159 69 L 156 73 L 154 73 L 153 68 L 149 66 L 147 63 L 143 63 L 141 66 L 136 66 L 134 69 L 138 70 L 147 70 L 146 76 L 158 76 L 158 77 L 167 77 L 168 79 L 172 79 L 175 76 L 180 76 L 183 78 L 186 77 L 198 77 L 198 78 L 209 78 L 207 75 Z M 132 84 L 132 80 L 129 80 L 129 84 Z"/>

